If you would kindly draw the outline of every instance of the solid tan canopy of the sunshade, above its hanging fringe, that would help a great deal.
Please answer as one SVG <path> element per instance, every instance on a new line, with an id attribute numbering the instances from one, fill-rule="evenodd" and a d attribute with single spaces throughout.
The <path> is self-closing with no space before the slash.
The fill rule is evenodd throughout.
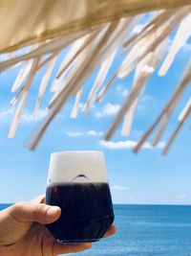
<path id="1" fill-rule="evenodd" d="M 0 53 L 119 17 L 189 4 L 190 0 L 1 0 Z"/>

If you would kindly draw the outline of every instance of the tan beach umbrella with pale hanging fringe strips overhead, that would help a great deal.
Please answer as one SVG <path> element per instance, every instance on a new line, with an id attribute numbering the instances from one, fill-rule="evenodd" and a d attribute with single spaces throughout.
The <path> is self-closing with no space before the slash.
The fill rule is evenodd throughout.
<path id="1" fill-rule="evenodd" d="M 0 30 L 0 53 L 6 58 L 0 63 L 0 70 L 9 70 L 21 62 L 20 72 L 12 86 L 15 96 L 11 105 L 17 106 L 9 132 L 10 138 L 15 135 L 34 76 L 46 66 L 47 72 L 39 84 L 33 112 L 35 118 L 56 59 L 63 49 L 71 46 L 54 78 L 51 88 L 54 94 L 48 106 L 48 115 L 28 142 L 31 149 L 37 146 L 55 115 L 73 96 L 75 103 L 72 117 L 77 116 L 83 85 L 97 66 L 100 66 L 100 70 L 84 106 L 85 112 L 89 112 L 95 102 L 103 99 L 117 78 L 127 78 L 136 70 L 132 90 L 121 105 L 105 138 L 109 140 L 122 121 L 121 133 L 127 136 L 149 77 L 161 61 L 159 76 L 164 76 L 191 35 L 191 0 L 18 0 L 16 6 L 13 0 L 0 1 L 0 21 L 3 24 Z M 137 34 L 132 34 L 145 13 L 152 11 L 156 12 L 147 17 L 147 24 Z M 167 39 L 176 28 L 178 30 L 168 52 Z M 19 51 L 25 46 L 30 47 Z M 105 83 L 117 49 L 120 49 L 125 58 L 111 80 Z M 159 126 L 153 142 L 154 146 L 157 145 L 190 81 L 191 61 L 187 64 L 174 95 L 164 105 L 156 122 L 143 134 L 136 152 Z M 178 127 L 169 139 L 164 153 L 169 150 L 190 114 L 191 100 L 182 109 Z"/>

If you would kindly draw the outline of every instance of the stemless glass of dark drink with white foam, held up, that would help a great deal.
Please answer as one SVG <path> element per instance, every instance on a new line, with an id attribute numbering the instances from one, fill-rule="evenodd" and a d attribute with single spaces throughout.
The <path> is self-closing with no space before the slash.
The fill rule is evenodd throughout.
<path id="1" fill-rule="evenodd" d="M 47 227 L 60 243 L 100 240 L 114 221 L 102 151 L 63 151 L 51 155 L 46 203 L 62 214 Z"/>

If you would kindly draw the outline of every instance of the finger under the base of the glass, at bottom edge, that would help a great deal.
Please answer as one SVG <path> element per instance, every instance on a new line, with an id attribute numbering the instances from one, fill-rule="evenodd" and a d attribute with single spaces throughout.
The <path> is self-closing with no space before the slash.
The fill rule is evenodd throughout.
<path id="1" fill-rule="evenodd" d="M 56 243 L 53 245 L 53 256 L 61 253 L 73 253 L 80 252 L 83 250 L 90 249 L 92 247 L 91 243 L 85 244 L 59 244 Z"/>

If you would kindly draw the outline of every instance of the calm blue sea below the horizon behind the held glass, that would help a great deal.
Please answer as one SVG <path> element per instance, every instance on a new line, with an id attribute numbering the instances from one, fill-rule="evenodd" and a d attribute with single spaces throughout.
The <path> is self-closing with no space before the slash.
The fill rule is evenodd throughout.
<path id="1" fill-rule="evenodd" d="M 0 209 L 8 206 L 0 204 Z M 114 205 L 114 209 L 117 233 L 76 255 L 191 256 L 191 206 Z"/>

